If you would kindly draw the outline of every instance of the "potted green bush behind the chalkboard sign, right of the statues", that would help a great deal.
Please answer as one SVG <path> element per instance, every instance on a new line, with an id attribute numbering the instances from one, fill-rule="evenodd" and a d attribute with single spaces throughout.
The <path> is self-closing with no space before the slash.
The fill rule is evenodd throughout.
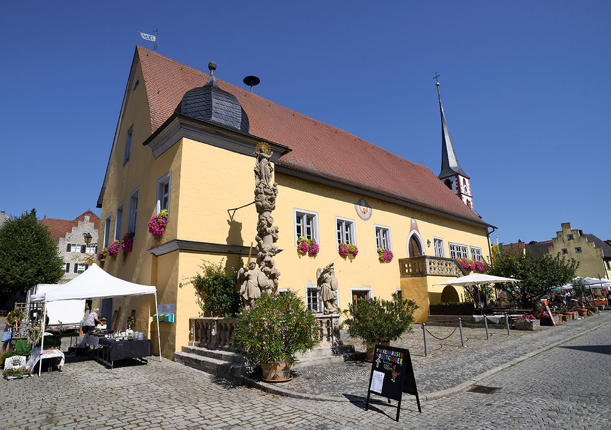
<path id="1" fill-rule="evenodd" d="M 350 337 L 362 340 L 367 348 L 366 360 L 371 362 L 376 344 L 387 345 L 411 331 L 417 308 L 414 301 L 401 299 L 397 293 L 390 300 L 361 299 L 342 312 L 346 316 L 342 328 L 347 327 Z"/>

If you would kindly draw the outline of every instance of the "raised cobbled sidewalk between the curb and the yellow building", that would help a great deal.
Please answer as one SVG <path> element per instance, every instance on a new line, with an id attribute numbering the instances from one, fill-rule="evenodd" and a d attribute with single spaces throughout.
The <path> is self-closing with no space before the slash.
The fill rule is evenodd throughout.
<path id="1" fill-rule="evenodd" d="M 391 344 L 409 349 L 419 392 L 433 393 L 455 387 L 502 363 L 518 359 L 522 355 L 558 341 L 570 339 L 601 323 L 611 323 L 611 313 L 570 321 L 558 327 L 542 327 L 537 332 L 511 330 L 511 335 L 507 335 L 505 330 L 491 330 L 490 341 L 486 341 L 485 329 L 463 329 L 464 336 L 469 339 L 466 341 L 467 348 L 461 348 L 457 330 L 445 341 L 430 341 L 430 348 L 435 351 L 431 352 L 429 358 L 424 356 L 422 330 L 419 337 L 408 334 L 400 341 Z M 430 331 L 437 337 L 443 338 L 450 334 L 452 329 L 430 327 Z M 292 381 L 283 384 L 283 387 L 314 395 L 357 395 L 365 392 L 370 371 L 371 364 L 364 362 L 300 368 L 293 371 L 295 377 Z"/>

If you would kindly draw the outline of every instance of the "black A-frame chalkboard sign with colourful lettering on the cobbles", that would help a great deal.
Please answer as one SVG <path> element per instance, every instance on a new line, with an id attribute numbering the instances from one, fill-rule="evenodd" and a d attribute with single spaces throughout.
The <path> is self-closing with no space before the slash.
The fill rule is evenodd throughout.
<path id="1" fill-rule="evenodd" d="M 365 410 L 369 409 L 371 393 L 386 397 L 389 401 L 390 399 L 398 401 L 397 421 L 399 421 L 399 413 L 401 412 L 401 395 L 403 393 L 416 396 L 418 412 L 422 412 L 412 359 L 407 349 L 384 345 L 375 346 Z"/>

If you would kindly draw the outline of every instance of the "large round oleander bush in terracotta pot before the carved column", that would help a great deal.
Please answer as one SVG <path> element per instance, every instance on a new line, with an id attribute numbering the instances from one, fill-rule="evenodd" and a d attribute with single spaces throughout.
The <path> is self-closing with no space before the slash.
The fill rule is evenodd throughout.
<path id="1" fill-rule="evenodd" d="M 287 382 L 296 354 L 320 343 L 320 323 L 293 291 L 263 293 L 238 313 L 232 342 L 244 348 L 250 363 L 261 365 L 263 381 Z"/>

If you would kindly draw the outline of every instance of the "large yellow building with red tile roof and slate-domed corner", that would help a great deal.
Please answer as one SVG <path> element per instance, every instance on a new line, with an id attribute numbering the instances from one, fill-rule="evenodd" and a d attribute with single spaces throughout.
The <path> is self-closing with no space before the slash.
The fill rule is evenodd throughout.
<path id="1" fill-rule="evenodd" d="M 443 111 L 442 120 L 445 167 L 456 172 Z M 492 226 L 472 209 L 470 184 L 467 206 L 426 167 L 137 47 L 98 199 L 100 249 L 135 233 L 133 251 L 107 258 L 104 270 L 156 285 L 159 304 L 175 305 L 175 323 L 160 329 L 166 357 L 188 343 L 189 318 L 200 312 L 191 286 L 179 284 L 202 260 L 245 261 L 255 241 L 253 153 L 260 142 L 271 147 L 279 190 L 272 214 L 279 288 L 295 290 L 314 310 L 316 269 L 334 262 L 340 308 L 401 291 L 420 304 L 423 321 L 430 302 L 461 299 L 463 291 L 433 286 L 463 274 L 454 258 L 489 255 Z M 468 179 L 462 170 L 461 178 Z M 147 223 L 163 209 L 169 222 L 154 239 Z M 301 235 L 318 242 L 318 255 L 299 255 Z M 338 254 L 340 241 L 357 246 L 356 258 Z M 380 261 L 378 248 L 392 250 L 392 261 Z M 125 305 L 136 310 L 137 330 L 156 335 L 150 299 Z"/>

